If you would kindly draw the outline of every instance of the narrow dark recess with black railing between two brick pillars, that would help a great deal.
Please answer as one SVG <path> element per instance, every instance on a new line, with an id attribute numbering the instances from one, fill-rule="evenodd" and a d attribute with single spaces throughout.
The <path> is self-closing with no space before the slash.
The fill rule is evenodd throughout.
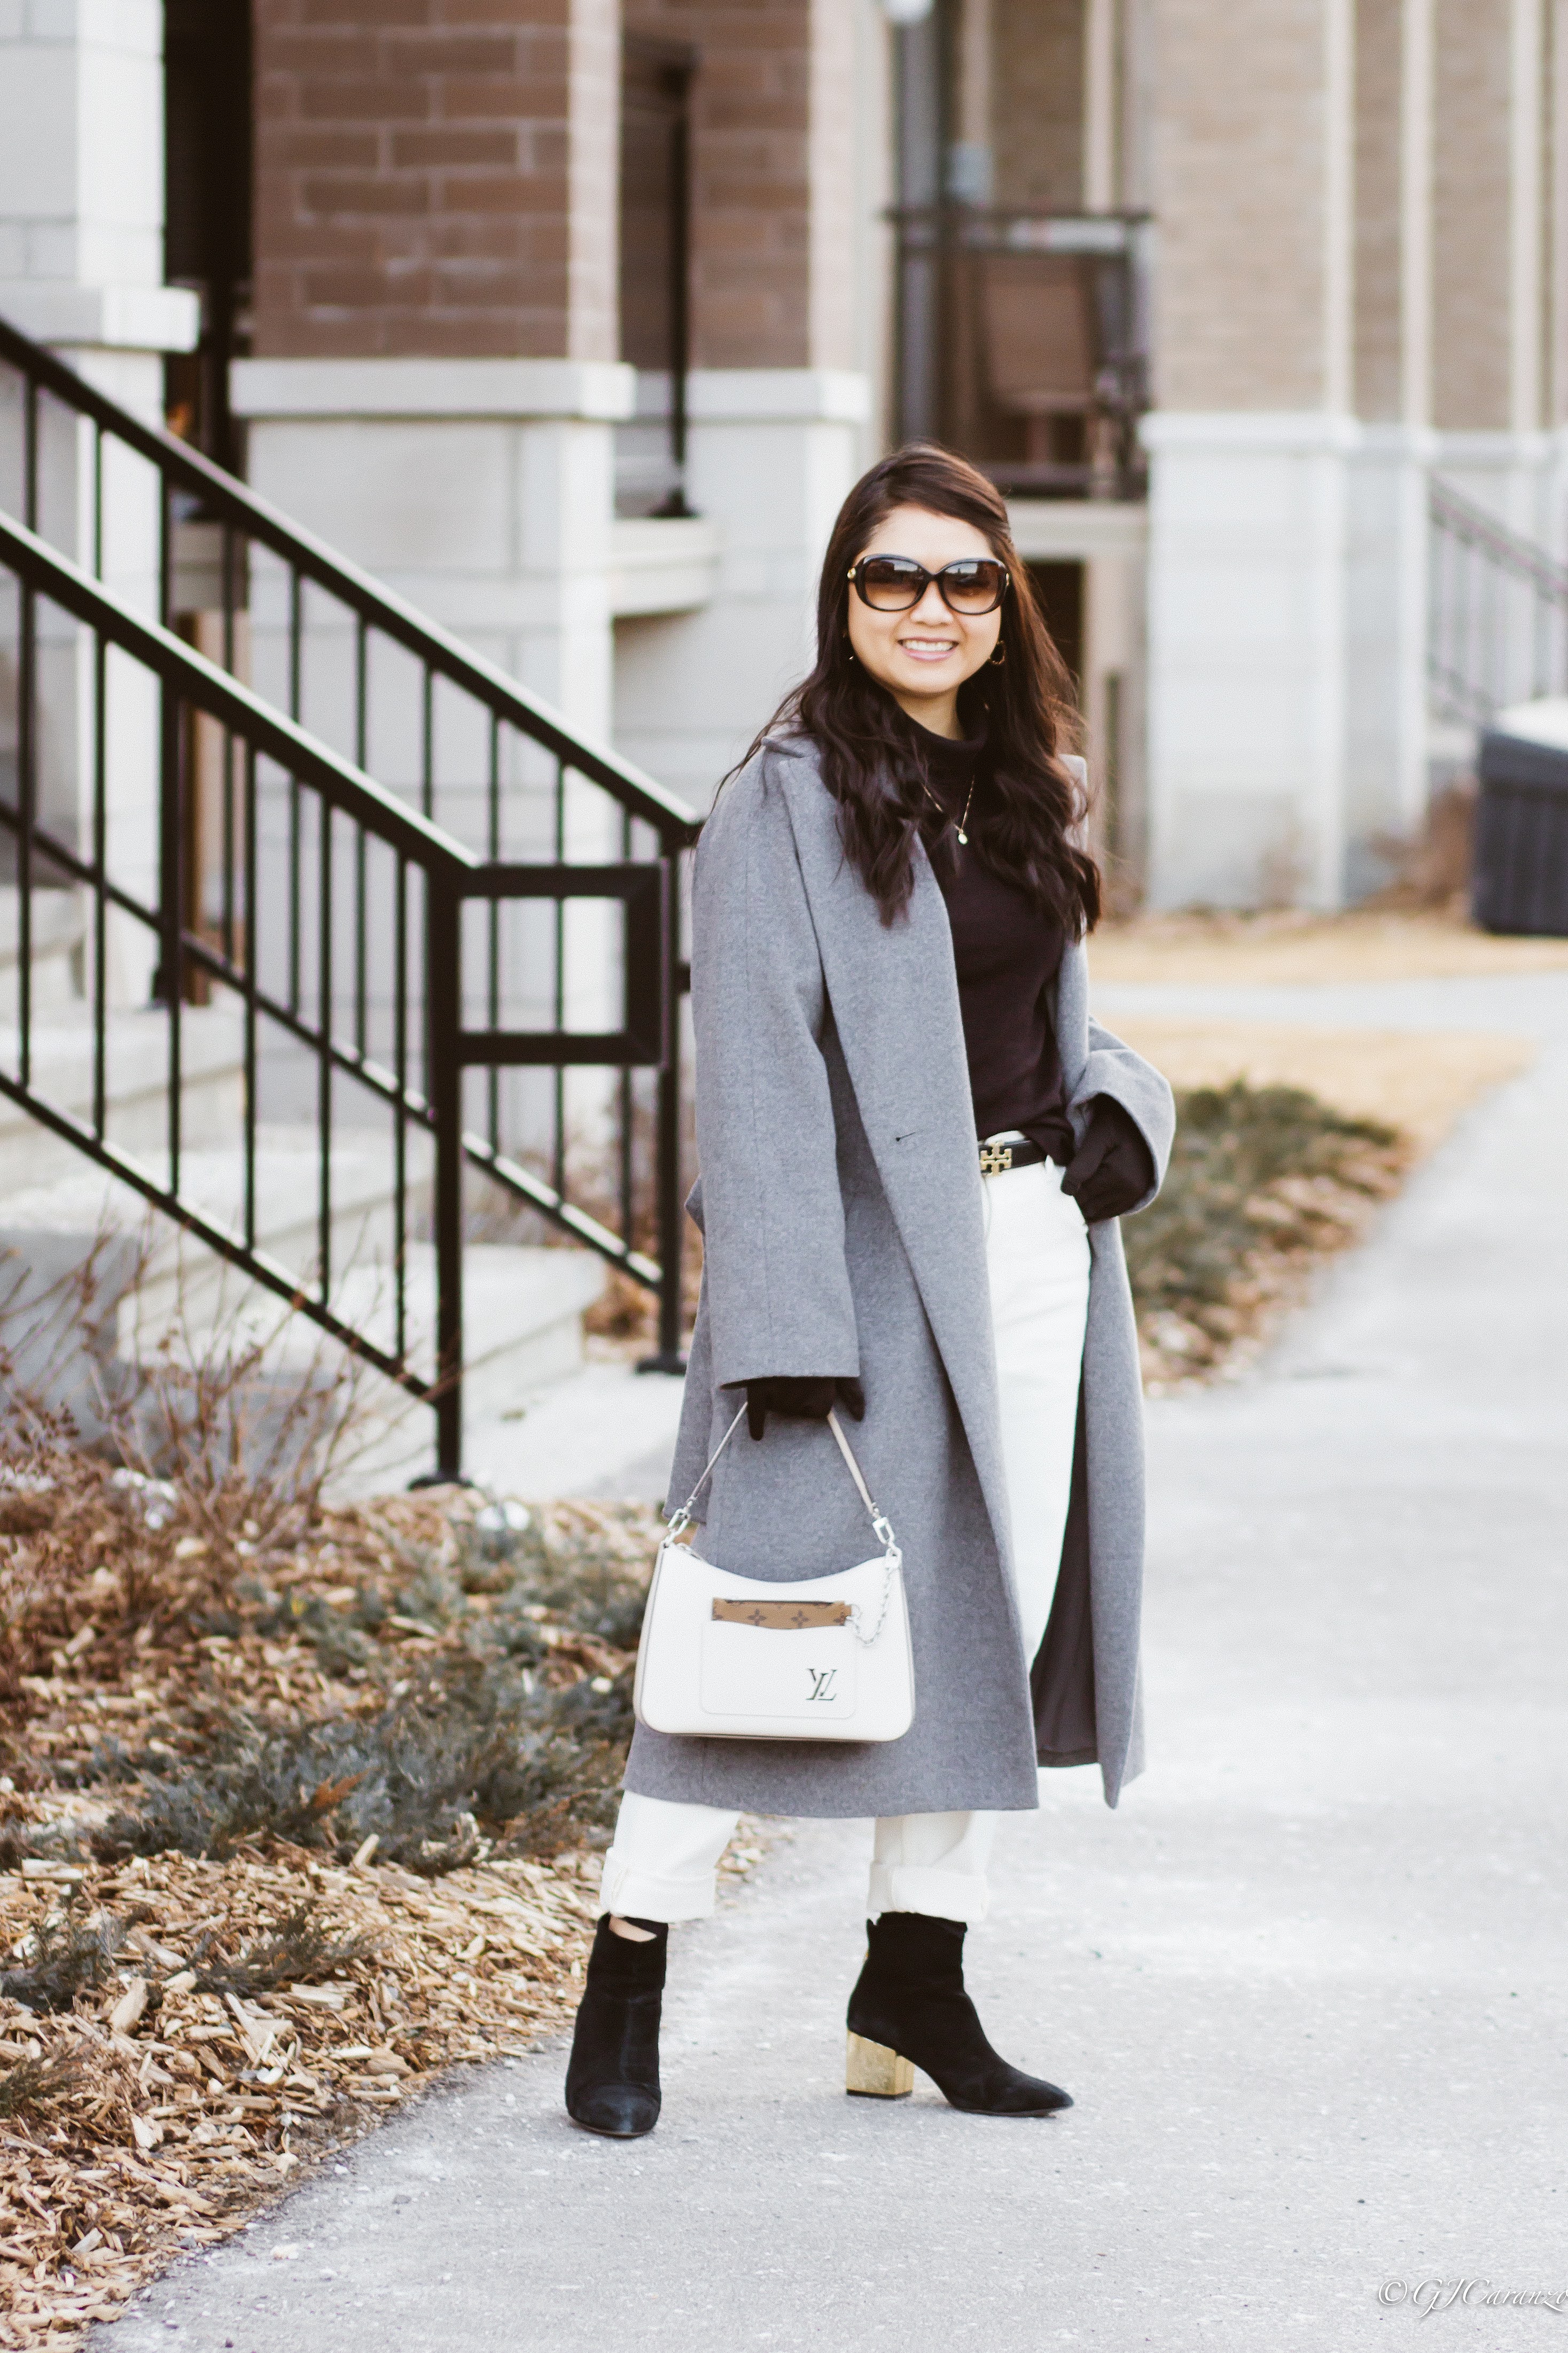
<path id="1" fill-rule="evenodd" d="M 621 358 L 646 376 L 618 438 L 623 513 L 689 515 L 691 78 L 696 49 L 628 33 L 621 64 Z"/>

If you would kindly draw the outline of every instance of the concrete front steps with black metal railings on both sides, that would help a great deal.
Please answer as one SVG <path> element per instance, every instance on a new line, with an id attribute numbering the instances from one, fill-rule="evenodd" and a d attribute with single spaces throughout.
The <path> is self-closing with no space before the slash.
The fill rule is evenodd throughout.
<path id="1" fill-rule="evenodd" d="M 14 1377 L 92 1424 L 174 1327 L 197 1358 L 266 1344 L 284 1386 L 324 1353 L 374 1374 L 388 1466 L 416 1466 L 433 1417 L 454 1475 L 465 1414 L 581 1362 L 609 1268 L 658 1299 L 649 1369 L 679 1369 L 691 812 L 0 325 L 0 459 L 12 416 Z M 141 600 L 115 565 L 127 468 L 158 551 Z M 89 485 L 92 565 L 40 527 L 61 482 Z M 172 609 L 190 532 L 219 548 L 200 616 Z M 284 616 L 270 696 L 237 675 L 254 584 Z M 475 1174 L 534 1242 L 465 1240 Z"/>

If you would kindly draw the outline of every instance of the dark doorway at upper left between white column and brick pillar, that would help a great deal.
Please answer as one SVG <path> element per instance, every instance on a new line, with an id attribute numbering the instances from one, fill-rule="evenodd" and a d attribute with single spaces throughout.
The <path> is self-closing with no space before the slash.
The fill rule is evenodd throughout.
<path id="1" fill-rule="evenodd" d="M 249 348 L 249 0 L 165 0 L 165 278 L 202 301 L 202 339 L 165 369 L 169 428 L 240 473 L 228 362 Z"/>

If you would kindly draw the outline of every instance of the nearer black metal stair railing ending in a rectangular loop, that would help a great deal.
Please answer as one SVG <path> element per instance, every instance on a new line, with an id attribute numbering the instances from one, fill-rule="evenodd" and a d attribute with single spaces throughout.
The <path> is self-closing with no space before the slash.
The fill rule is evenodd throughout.
<path id="1" fill-rule="evenodd" d="M 628 1240 L 614 1235 L 609 1228 L 585 1217 L 571 1205 L 552 1200 L 548 1188 L 520 1165 L 508 1165 L 503 1155 L 496 1155 L 484 1136 L 470 1134 L 461 1125 L 461 1071 L 475 1064 L 505 1064 L 520 1059 L 541 1059 L 545 1054 L 564 1052 L 576 1061 L 642 1061 L 642 1064 L 668 1064 L 675 1038 L 672 1038 L 672 974 L 668 955 L 663 953 L 663 934 L 670 925 L 672 906 L 672 864 L 661 861 L 649 864 L 623 864 L 623 866 L 503 866 L 477 859 L 463 842 L 442 833 L 440 826 L 430 824 L 421 812 L 409 809 L 393 793 L 383 791 L 357 769 L 353 762 L 343 760 L 329 746 L 320 744 L 303 727 L 299 727 L 287 715 L 273 711 L 261 696 L 252 694 L 240 680 L 228 671 L 216 668 L 195 654 L 181 638 L 136 614 L 118 598 L 113 598 L 99 581 L 94 581 L 78 565 L 68 562 L 35 532 L 0 515 L 0 569 L 9 572 L 21 588 L 21 645 L 19 645 L 19 675 L 24 680 L 21 701 L 21 732 L 24 741 L 33 732 L 31 727 L 31 680 L 38 668 L 38 600 L 66 612 L 73 621 L 92 631 L 96 649 L 96 682 L 99 692 L 94 699 L 96 718 L 96 755 L 94 755 L 94 781 L 96 781 L 96 807 L 94 807 L 94 856 L 85 859 L 68 840 L 56 831 L 49 831 L 38 821 L 35 812 L 35 776 L 31 774 L 31 762 L 24 760 L 19 776 L 19 802 L 7 807 L 0 802 L 0 826 L 16 840 L 19 849 L 19 1071 L 9 1075 L 0 1071 L 0 1092 L 12 1101 L 21 1104 L 33 1118 L 49 1127 L 56 1136 L 73 1144 L 80 1153 L 94 1160 L 99 1167 L 118 1176 L 122 1184 L 132 1186 L 143 1200 L 158 1207 L 165 1217 L 179 1224 L 186 1233 L 193 1233 L 212 1252 L 226 1259 L 230 1266 L 247 1273 L 254 1282 L 263 1285 L 273 1294 L 282 1297 L 299 1313 L 310 1318 L 322 1332 L 336 1339 L 353 1355 L 374 1365 L 390 1381 L 400 1384 L 414 1398 L 435 1407 L 437 1417 L 437 1461 L 442 1471 L 461 1468 L 461 1445 L 463 1445 L 463 1219 L 461 1219 L 461 1162 L 470 1162 L 487 1169 L 501 1184 L 522 1193 L 531 1205 L 543 1207 L 559 1217 L 562 1224 L 588 1247 L 597 1249 L 602 1257 L 623 1266 L 635 1280 L 658 1285 L 663 1280 L 663 1268 L 649 1261 L 642 1252 L 635 1252 Z M 212 941 L 193 932 L 179 915 L 179 875 L 174 875 L 174 889 L 167 889 L 167 873 L 162 875 L 165 889 L 160 892 L 160 904 L 148 904 L 139 899 L 132 889 L 113 882 L 106 868 L 106 807 L 103 807 L 103 649 L 115 647 L 120 654 L 129 656 L 139 668 L 150 671 L 165 696 L 165 713 L 160 722 L 160 739 L 165 753 L 172 753 L 172 767 L 165 769 L 165 800 L 169 791 L 179 800 L 181 776 L 179 776 L 179 713 L 200 711 L 205 718 L 219 722 L 244 744 L 247 751 L 247 814 L 244 814 L 244 838 L 249 842 L 247 852 L 247 946 L 240 960 L 219 953 Z M 256 760 L 266 758 L 282 769 L 292 786 L 303 786 L 313 791 L 324 809 L 343 816 L 350 826 L 362 828 L 364 835 L 381 842 L 400 859 L 400 871 L 414 866 L 425 880 L 425 1085 L 411 1085 L 407 1078 L 407 1066 L 388 1068 L 376 1064 L 374 1056 L 364 1054 L 353 1040 L 331 1033 L 329 1002 L 324 1000 L 322 1016 L 313 1026 L 299 1014 L 296 1007 L 284 1002 L 277 993 L 268 991 L 256 972 L 254 951 L 254 913 L 256 913 Z M 167 831 L 167 828 L 165 828 Z M 47 868 L 87 889 L 99 901 L 99 922 L 94 927 L 96 941 L 96 976 L 99 976 L 99 1000 L 96 1000 L 96 1073 L 94 1073 L 94 1118 L 85 1122 L 73 1113 L 52 1104 L 47 1094 L 33 1080 L 33 1024 L 28 1005 L 28 981 L 31 981 L 31 894 L 35 887 L 38 868 Z M 555 1038 L 552 1033 L 517 1033 L 517 1031 L 470 1031 L 463 1026 L 461 1007 L 461 906 L 470 899 L 484 901 L 517 901 L 538 896 L 623 896 L 628 901 L 628 915 L 635 899 L 649 901 L 649 892 L 656 894 L 656 906 L 646 906 L 642 922 L 642 969 L 632 974 L 632 962 L 628 955 L 628 1024 L 621 1035 L 592 1035 L 578 1038 L 567 1033 Z M 122 1151 L 106 1134 L 106 1085 L 103 1085 L 103 1052 L 106 1052 L 106 1007 L 101 998 L 101 974 L 103 974 L 103 915 L 113 908 L 120 915 L 150 929 L 165 958 L 160 998 L 169 1016 L 169 1073 L 167 1073 L 167 1181 L 160 1181 L 143 1167 L 132 1153 Z M 400 948 L 397 965 L 407 974 L 407 946 L 402 939 L 402 927 L 407 922 L 407 889 L 400 880 L 397 892 L 400 908 Z M 294 911 L 299 915 L 299 908 Z M 649 929 L 646 915 L 654 915 L 654 927 Z M 221 988 L 230 991 L 244 1005 L 247 1019 L 247 1106 L 244 1106 L 244 1238 L 226 1233 L 214 1226 L 209 1217 L 202 1214 L 181 1193 L 181 1005 L 183 1005 L 183 974 L 197 967 Z M 646 1021 L 649 1000 L 658 1002 L 658 1014 L 654 1024 Z M 642 1014 L 642 1031 L 637 1024 Z M 397 1266 L 393 1268 L 397 1282 L 397 1344 L 395 1348 L 383 1348 L 367 1332 L 350 1325 L 331 1306 L 329 1297 L 329 1257 L 327 1257 L 327 1233 L 331 1224 L 331 1198 L 329 1198 L 329 1153 L 324 1148 L 322 1160 L 322 1259 L 317 1289 L 313 1294 L 310 1285 L 301 1282 L 299 1273 L 282 1266 L 266 1247 L 256 1242 L 256 1099 L 254 1099 L 254 1068 L 256 1068 L 256 1021 L 266 1016 L 273 1024 L 292 1031 L 294 1038 L 308 1047 L 320 1064 L 322 1073 L 341 1073 L 369 1087 L 395 1115 L 397 1122 L 397 1231 L 400 1252 Z M 400 1012 L 402 1021 L 402 1012 Z M 407 1024 L 404 1024 L 407 1028 Z M 639 1031 L 639 1033 L 637 1033 Z M 400 1056 L 402 1061 L 402 1056 Z M 322 1085 L 329 1087 L 324 1075 Z M 435 1141 L 435 1292 L 437 1292 L 437 1315 L 435 1315 L 435 1365 L 433 1372 L 418 1372 L 411 1362 L 409 1337 L 407 1337 L 407 1301 L 404 1301 L 404 1249 L 402 1235 L 407 1231 L 407 1125 L 416 1125 L 428 1132 Z"/>

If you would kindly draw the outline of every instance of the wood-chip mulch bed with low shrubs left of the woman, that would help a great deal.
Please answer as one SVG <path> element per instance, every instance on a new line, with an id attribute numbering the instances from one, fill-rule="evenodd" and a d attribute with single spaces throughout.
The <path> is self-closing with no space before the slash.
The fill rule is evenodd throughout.
<path id="1" fill-rule="evenodd" d="M 649 1506 L 0 1464 L 0 2346 L 576 2002 Z M 741 1857 L 745 1866 L 750 1859 Z"/>

